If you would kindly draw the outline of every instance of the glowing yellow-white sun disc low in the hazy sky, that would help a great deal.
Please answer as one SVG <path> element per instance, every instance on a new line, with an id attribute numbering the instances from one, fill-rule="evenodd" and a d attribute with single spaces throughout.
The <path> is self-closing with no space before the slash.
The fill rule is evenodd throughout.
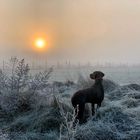
<path id="1" fill-rule="evenodd" d="M 35 40 L 35 46 L 38 49 L 43 49 L 46 46 L 46 41 L 43 38 L 38 38 Z"/>

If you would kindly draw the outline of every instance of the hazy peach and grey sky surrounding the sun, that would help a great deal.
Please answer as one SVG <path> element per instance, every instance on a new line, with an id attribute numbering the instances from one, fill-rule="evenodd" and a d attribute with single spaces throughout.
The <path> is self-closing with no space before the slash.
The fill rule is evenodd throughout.
<path id="1" fill-rule="evenodd" d="M 139 0 L 0 0 L 0 59 L 139 64 L 139 17 Z"/>

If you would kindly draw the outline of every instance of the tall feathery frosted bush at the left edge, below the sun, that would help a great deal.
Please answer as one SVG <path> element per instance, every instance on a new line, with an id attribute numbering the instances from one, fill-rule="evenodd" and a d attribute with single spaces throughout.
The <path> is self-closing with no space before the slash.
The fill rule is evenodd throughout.
<path id="1" fill-rule="evenodd" d="M 1 109 L 9 113 L 29 110 L 33 96 L 47 86 L 52 68 L 30 75 L 29 65 L 17 58 L 11 58 L 6 68 L 0 70 Z"/>

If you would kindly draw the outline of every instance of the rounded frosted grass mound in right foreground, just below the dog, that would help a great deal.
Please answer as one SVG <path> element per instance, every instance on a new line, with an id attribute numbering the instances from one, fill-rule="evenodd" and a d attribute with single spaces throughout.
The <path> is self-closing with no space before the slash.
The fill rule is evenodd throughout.
<path id="1" fill-rule="evenodd" d="M 120 140 L 128 137 L 128 133 L 135 126 L 135 122 L 127 114 L 124 114 L 121 108 L 106 107 L 86 124 L 79 126 L 75 138 L 80 140 Z"/>

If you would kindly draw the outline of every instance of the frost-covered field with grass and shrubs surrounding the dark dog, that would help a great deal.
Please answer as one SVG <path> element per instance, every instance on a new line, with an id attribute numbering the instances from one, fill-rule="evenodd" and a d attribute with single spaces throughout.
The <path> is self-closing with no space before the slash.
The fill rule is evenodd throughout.
<path id="1" fill-rule="evenodd" d="M 0 140 L 140 140 L 140 69 L 94 66 L 30 70 L 12 59 L 0 71 Z M 70 102 L 78 89 L 90 87 L 89 74 L 103 71 L 105 99 L 87 122 L 72 127 Z"/>

